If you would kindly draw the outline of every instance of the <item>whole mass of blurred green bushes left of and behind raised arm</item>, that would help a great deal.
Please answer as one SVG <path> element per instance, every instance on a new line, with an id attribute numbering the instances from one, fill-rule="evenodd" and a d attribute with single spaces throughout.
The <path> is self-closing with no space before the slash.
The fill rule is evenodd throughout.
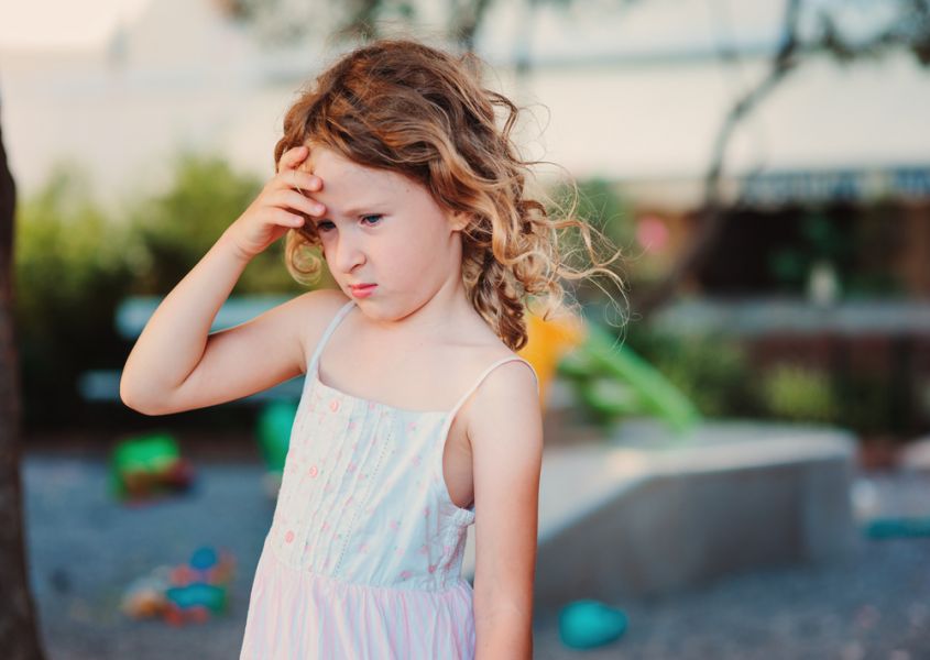
<path id="1" fill-rule="evenodd" d="M 80 167 L 66 162 L 21 200 L 14 287 L 28 428 L 73 422 L 87 413 L 78 375 L 121 369 L 132 348 L 114 329 L 120 300 L 166 295 L 261 186 L 219 158 L 183 154 L 168 188 L 132 195 L 121 205 L 125 212 L 108 215 Z M 277 241 L 252 260 L 232 293 L 305 290 L 287 273 L 283 248 Z"/>

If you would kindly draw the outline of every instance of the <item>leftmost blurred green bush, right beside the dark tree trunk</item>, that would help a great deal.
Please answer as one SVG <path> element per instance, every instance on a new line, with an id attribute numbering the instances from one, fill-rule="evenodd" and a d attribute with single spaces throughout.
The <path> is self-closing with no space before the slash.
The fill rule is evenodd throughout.
<path id="1" fill-rule="evenodd" d="M 131 278 L 127 228 L 87 190 L 79 170 L 62 164 L 17 209 L 15 322 L 28 426 L 75 415 L 77 374 L 116 363 L 113 308 Z"/>

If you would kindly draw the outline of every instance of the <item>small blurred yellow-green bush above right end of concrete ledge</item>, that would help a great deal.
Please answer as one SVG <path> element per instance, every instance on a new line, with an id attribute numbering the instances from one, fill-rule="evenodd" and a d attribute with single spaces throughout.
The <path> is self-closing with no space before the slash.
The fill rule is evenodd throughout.
<path id="1" fill-rule="evenodd" d="M 758 387 L 763 406 L 773 417 L 839 421 L 839 402 L 825 372 L 798 364 L 776 364 L 762 371 Z"/>

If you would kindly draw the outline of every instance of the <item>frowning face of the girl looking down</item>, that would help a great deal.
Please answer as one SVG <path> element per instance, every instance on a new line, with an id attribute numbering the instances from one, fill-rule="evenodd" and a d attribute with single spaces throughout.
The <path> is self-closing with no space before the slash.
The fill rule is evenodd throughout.
<path id="1" fill-rule="evenodd" d="M 397 320 L 442 287 L 461 285 L 461 216 L 422 185 L 311 146 L 304 168 L 322 179 L 311 194 L 326 210 L 317 226 L 329 271 L 372 319 Z M 353 285 L 373 284 L 363 293 Z"/>

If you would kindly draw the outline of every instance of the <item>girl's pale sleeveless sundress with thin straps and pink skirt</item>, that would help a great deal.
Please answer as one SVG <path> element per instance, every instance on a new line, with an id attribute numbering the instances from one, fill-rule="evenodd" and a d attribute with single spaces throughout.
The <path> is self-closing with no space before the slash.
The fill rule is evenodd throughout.
<path id="1" fill-rule="evenodd" d="M 319 356 L 354 304 L 307 366 L 240 660 L 474 657 L 473 591 L 460 573 L 475 512 L 449 497 L 442 450 L 492 370 L 533 367 L 496 361 L 450 411 L 351 396 L 319 380 Z"/>

